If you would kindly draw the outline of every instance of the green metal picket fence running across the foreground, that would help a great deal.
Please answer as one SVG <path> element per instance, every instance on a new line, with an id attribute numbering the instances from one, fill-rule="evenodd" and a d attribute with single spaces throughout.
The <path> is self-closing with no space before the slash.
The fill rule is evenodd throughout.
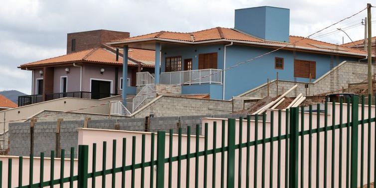
<path id="1" fill-rule="evenodd" d="M 371 97 L 370 97 L 371 99 Z M 313 187 L 313 183 L 315 182 L 316 188 L 327 188 L 331 187 L 346 187 L 346 188 L 357 188 L 362 187 L 364 184 L 367 184 L 367 187 L 370 187 L 371 180 L 376 179 L 376 173 L 374 173 L 374 177 L 371 177 L 371 172 L 375 172 L 375 166 L 371 164 L 371 151 L 376 151 L 376 143 L 371 143 L 371 123 L 375 122 L 375 118 L 372 117 L 372 109 L 368 108 L 368 119 L 365 119 L 365 104 L 364 104 L 364 97 L 362 97 L 362 105 L 361 105 L 361 120 L 358 118 L 358 101 L 359 98 L 357 96 L 353 96 L 352 98 L 353 104 L 346 105 L 346 109 L 343 109 L 343 103 L 340 102 L 340 112 L 339 114 L 339 124 L 335 124 L 336 122 L 336 104 L 333 103 L 332 107 L 332 125 L 328 126 L 328 104 L 325 103 L 324 109 L 324 126 L 320 126 L 320 105 L 317 105 L 316 112 L 316 125 L 313 125 L 313 107 L 309 106 L 307 112 L 309 114 L 309 125 L 308 129 L 305 128 L 305 114 L 307 113 L 304 107 L 299 108 L 290 108 L 286 110 L 285 113 L 285 121 L 282 122 L 282 111 L 278 111 L 277 117 L 277 125 L 274 125 L 274 112 L 270 112 L 270 132 L 266 133 L 266 114 L 262 115 L 262 125 L 259 124 L 259 116 L 254 117 L 254 130 L 251 130 L 251 116 L 246 118 L 246 133 L 243 133 L 242 124 L 243 121 L 239 121 L 239 130 L 235 129 L 235 119 L 228 119 L 227 126 L 221 126 L 221 140 L 217 140 L 217 122 L 213 123 L 213 140 L 208 141 L 208 124 L 203 126 L 204 129 L 204 148 L 203 150 L 199 150 L 199 134 L 200 128 L 196 126 L 196 137 L 195 139 L 195 151 L 190 152 L 190 127 L 188 127 L 188 135 L 187 135 L 187 154 L 182 155 L 182 129 L 179 129 L 178 133 L 178 155 L 173 156 L 173 139 L 169 137 L 169 146 L 166 146 L 166 133 L 165 132 L 158 132 L 157 134 L 157 143 L 155 143 L 155 134 L 151 134 L 151 143 L 146 143 L 145 135 L 142 136 L 142 158 L 141 163 L 135 163 L 136 161 L 136 137 L 132 138 L 132 149 L 127 149 L 126 139 L 124 138 L 122 141 L 122 151 L 116 151 L 116 140 L 113 141 L 113 149 L 112 149 L 112 167 L 111 169 L 106 168 L 106 142 L 103 143 L 103 161 L 102 167 L 98 169 L 96 167 L 96 144 L 94 143 L 92 146 L 92 156 L 88 155 L 88 146 L 79 146 L 78 148 L 78 173 L 74 176 L 74 150 L 71 149 L 71 160 L 70 160 L 70 176 L 64 177 L 64 159 L 60 161 L 60 178 L 53 179 L 53 180 L 44 180 L 43 175 L 43 167 L 44 167 L 44 154 L 41 153 L 40 159 L 40 179 L 39 183 L 33 183 L 33 156 L 30 156 L 30 165 L 29 165 L 29 185 L 21 185 L 22 184 L 22 172 L 24 171 L 23 164 L 22 164 L 22 157 L 19 157 L 19 164 L 18 164 L 18 185 L 11 185 L 12 182 L 12 159 L 8 159 L 8 169 L 7 172 L 2 169 L 2 162 L 0 161 L 0 187 L 2 187 L 2 175 L 3 173 L 8 174 L 7 178 L 7 187 L 12 188 L 42 188 L 42 187 L 54 187 L 54 185 L 60 185 L 60 188 L 63 187 L 64 183 L 69 183 L 69 187 L 73 188 L 73 183 L 76 182 L 78 188 L 87 188 L 88 181 L 91 181 L 91 185 L 93 188 L 95 187 L 109 187 L 111 185 L 112 188 L 115 188 L 116 183 L 116 175 L 121 174 L 121 188 L 126 187 L 126 172 L 131 172 L 131 183 L 130 187 L 134 188 L 136 181 L 140 181 L 141 188 L 145 187 L 145 179 L 150 179 L 150 188 L 172 188 L 177 187 L 181 188 L 182 181 L 186 181 L 186 187 L 203 187 L 207 188 L 207 183 L 211 182 L 211 187 L 227 187 L 227 188 L 234 188 L 234 187 L 261 187 L 265 188 L 266 181 L 265 177 L 269 178 L 269 187 L 273 187 L 276 185 L 277 188 L 311 188 Z M 369 100 L 369 106 L 371 106 L 371 100 Z M 300 112 L 300 113 L 299 113 Z M 346 112 L 346 113 L 345 113 Z M 350 113 L 351 112 L 351 113 Z M 376 110 L 374 112 L 376 115 Z M 343 114 L 347 114 L 346 117 L 343 117 Z M 374 116 L 375 117 L 375 116 Z M 242 117 L 239 118 L 242 120 Z M 343 123 L 343 120 L 346 120 L 346 123 Z M 300 120 L 300 121 L 299 121 Z M 225 120 L 222 120 L 222 125 L 225 124 Z M 367 136 L 367 151 L 365 150 L 365 125 L 368 125 L 368 136 Z M 262 139 L 258 139 L 258 129 L 262 127 Z M 360 127 L 360 134 L 359 134 L 359 127 Z M 227 129 L 227 139 L 225 140 L 225 129 Z M 275 131 L 277 130 L 277 131 Z M 345 130 L 345 131 L 344 131 Z M 235 141 L 235 135 L 238 131 L 238 144 Z M 251 132 L 254 132 L 254 139 L 251 139 Z M 286 134 L 282 135 L 282 131 Z M 274 132 L 277 132 L 277 135 L 274 135 Z M 339 132 L 339 135 L 336 133 Z M 346 137 L 344 138 L 344 132 L 346 132 Z M 172 130 L 170 131 L 170 135 L 172 135 Z M 328 133 L 331 133 L 331 138 L 328 137 Z M 269 135 L 270 137 L 266 137 Z M 242 142 L 242 138 L 246 136 L 246 142 Z M 322 136 L 324 136 L 322 138 Z M 305 143 L 305 138 L 308 137 L 308 145 Z M 339 139 L 337 139 L 337 137 Z M 316 142 L 313 142 L 313 138 L 316 139 Z M 299 142 L 300 139 L 300 142 Z M 324 139 L 324 148 L 321 148 L 321 139 Z M 328 150 L 328 141 L 332 141 L 331 151 Z M 342 142 L 346 140 L 346 142 Z M 282 147 L 282 141 L 285 142 L 285 146 Z M 217 146 L 219 143 L 221 147 L 213 147 L 208 149 L 208 142 L 212 142 L 213 146 Z M 339 143 L 338 143 L 339 142 Z M 359 146 L 360 144 L 360 148 Z M 339 147 L 336 148 L 336 144 L 338 143 Z M 150 144 L 151 151 L 150 157 L 151 161 L 145 161 L 145 145 Z M 155 150 L 155 144 L 157 144 L 157 151 Z M 269 144 L 269 151 L 266 151 L 266 145 Z M 274 145 L 277 146 L 276 150 Z M 375 145 L 374 148 L 371 148 L 372 145 Z M 313 147 L 314 146 L 314 147 Z M 169 147 L 169 155 L 165 156 L 165 150 Z M 259 147 L 261 147 L 261 151 L 259 151 Z M 300 147 L 300 149 L 299 149 Z M 305 157 L 305 152 L 307 151 L 308 147 L 308 158 Z M 253 151 L 253 156 L 250 155 L 250 151 Z M 316 149 L 316 156 L 313 156 L 313 150 Z M 343 149 L 346 149 L 346 155 L 343 153 Z M 132 152 L 132 163 L 131 165 L 126 165 L 126 153 L 131 151 Z M 258 153 L 262 153 L 262 163 L 258 163 Z M 284 160 L 282 161 L 282 152 L 284 152 Z M 360 159 L 359 159 L 359 152 L 360 152 Z M 245 154 L 244 154 L 245 153 Z M 269 154 L 271 159 L 270 161 L 266 161 L 266 154 Z M 121 154 L 121 155 L 119 155 Z M 328 154 L 330 154 L 331 158 L 328 158 Z M 367 161 L 364 161 L 365 154 L 367 154 Z M 54 151 L 51 151 L 51 168 L 50 168 L 50 177 L 54 177 Z M 156 160 L 155 159 L 156 155 Z M 274 162 L 274 156 L 277 155 L 277 161 Z M 61 150 L 61 155 L 64 156 L 64 150 Z M 212 161 L 208 161 L 208 156 L 212 156 Z M 246 163 L 241 163 L 243 157 L 246 157 Z M 320 166 L 320 161 L 323 156 L 323 168 Z M 343 156 L 346 156 L 344 159 Z M 92 164 L 88 164 L 89 157 L 92 158 Z M 116 166 L 116 158 L 120 157 L 122 160 L 122 166 Z M 200 164 L 199 158 L 203 157 L 203 164 Z M 218 164 L 216 159 L 220 157 L 220 163 Z M 337 158 L 338 157 L 338 158 Z M 194 159 L 194 164 L 191 164 L 190 159 Z M 226 159 L 226 160 L 225 160 Z M 374 158 L 376 159 L 376 158 Z M 328 167 L 328 160 L 331 160 L 331 167 Z M 359 161 L 360 160 L 360 161 Z M 186 161 L 185 169 L 182 168 L 182 161 Z M 340 165 L 336 166 L 337 161 Z M 253 169 L 250 167 L 251 163 L 253 162 Z M 316 166 L 312 165 L 312 162 L 316 162 Z M 359 163 L 360 162 L 360 163 Z M 178 173 L 173 174 L 173 163 L 177 163 L 178 165 Z M 212 168 L 208 169 L 208 164 L 212 164 Z M 269 163 L 269 169 L 266 169 L 265 164 Z M 360 166 L 358 166 L 358 163 Z M 168 173 L 165 174 L 165 165 L 168 164 Z M 286 167 L 284 171 L 282 171 L 281 164 L 284 164 Z M 308 171 L 305 169 L 308 164 Z M 346 165 L 343 165 L 346 164 Z M 88 166 L 91 165 L 93 172 L 88 172 Z M 193 167 L 194 168 L 191 168 Z M 203 172 L 199 172 L 199 167 L 203 165 Z M 376 161 L 374 162 L 376 165 Z M 343 169 L 343 166 L 346 166 L 346 170 Z M 157 168 L 156 174 L 154 174 L 154 170 L 150 170 L 150 172 L 146 173 L 145 168 L 150 167 L 150 169 Z M 261 174 L 259 174 L 259 169 L 261 168 Z M 365 175 L 365 168 L 367 168 L 367 174 Z M 190 171 L 194 170 L 194 177 L 189 177 Z M 235 169 L 238 170 L 235 173 Z M 242 170 L 245 169 L 245 174 L 242 174 Z M 313 169 L 315 169 L 315 174 L 313 174 Z M 329 171 L 330 169 L 330 171 Z M 141 176 L 135 176 L 135 171 L 141 170 Z M 337 171 L 338 170 L 338 171 Z M 254 178 L 253 182 L 250 182 L 250 172 L 253 172 Z M 345 174 L 343 173 L 346 172 Z M 186 176 L 182 178 L 182 172 L 186 172 Z M 275 173 L 276 172 L 276 173 Z M 306 173 L 308 172 L 308 173 Z M 215 178 L 208 179 L 207 174 L 211 173 L 211 177 L 219 177 L 220 176 L 220 185 L 217 185 Z M 328 174 L 330 173 L 330 174 Z M 273 177 L 274 175 L 277 177 Z M 285 178 L 285 184 L 281 184 L 281 175 Z M 323 174 L 323 180 L 320 181 L 320 177 Z M 106 182 L 105 176 L 111 176 L 111 182 Z M 199 175 L 203 176 L 203 181 L 199 181 Z M 329 176 L 330 175 L 330 176 Z M 358 179 L 360 176 L 360 180 Z M 367 182 L 363 182 L 365 179 L 364 176 L 367 176 Z M 102 184 L 96 185 L 96 178 L 102 177 Z M 156 177 L 156 182 L 154 183 L 154 177 Z M 165 182 L 165 177 L 168 177 L 168 181 Z M 177 181 L 172 181 L 173 177 L 176 177 Z M 261 182 L 258 182 L 257 177 L 261 177 Z M 306 183 L 306 177 L 308 177 L 308 184 Z M 328 177 L 331 177 L 330 185 L 328 185 Z M 194 185 L 189 185 L 189 180 L 194 180 Z M 242 181 L 245 179 L 245 181 Z M 236 181 L 235 181 L 236 180 Z M 334 180 L 338 180 L 338 184 L 335 183 Z M 237 185 L 235 185 L 237 182 Z M 244 183 L 245 182 L 245 183 Z M 299 185 L 300 182 L 300 185 Z M 343 183 L 345 182 L 345 184 Z"/>

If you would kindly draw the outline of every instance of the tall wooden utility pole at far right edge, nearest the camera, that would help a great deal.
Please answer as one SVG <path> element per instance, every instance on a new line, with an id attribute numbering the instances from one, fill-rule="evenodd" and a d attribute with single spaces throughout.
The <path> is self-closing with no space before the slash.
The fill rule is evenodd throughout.
<path id="1" fill-rule="evenodd" d="M 367 17 L 371 16 L 371 3 L 367 3 Z M 372 25 L 371 19 L 367 20 L 368 26 L 368 44 L 372 44 Z M 368 94 L 372 96 L 373 94 L 373 87 L 372 87 L 372 45 L 368 45 Z"/>

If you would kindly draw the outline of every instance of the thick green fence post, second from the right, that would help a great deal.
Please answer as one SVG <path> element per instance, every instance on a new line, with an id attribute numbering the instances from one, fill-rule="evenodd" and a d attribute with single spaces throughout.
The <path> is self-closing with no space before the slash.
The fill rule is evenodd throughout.
<path id="1" fill-rule="evenodd" d="M 298 188 L 299 108 L 290 108 L 289 188 Z"/>

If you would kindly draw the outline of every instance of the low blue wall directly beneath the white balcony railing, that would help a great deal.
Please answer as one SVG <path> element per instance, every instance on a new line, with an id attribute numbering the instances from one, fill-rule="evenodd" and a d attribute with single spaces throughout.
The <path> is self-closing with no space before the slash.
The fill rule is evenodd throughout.
<path id="1" fill-rule="evenodd" d="M 222 99 L 222 84 L 183 85 L 182 94 L 210 94 L 210 99 Z"/>

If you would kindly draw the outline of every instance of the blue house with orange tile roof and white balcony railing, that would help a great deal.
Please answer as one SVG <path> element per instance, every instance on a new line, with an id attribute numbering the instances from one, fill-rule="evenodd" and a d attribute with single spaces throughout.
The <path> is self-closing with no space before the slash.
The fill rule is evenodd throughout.
<path id="1" fill-rule="evenodd" d="M 287 8 L 236 9 L 234 28 L 160 31 L 109 44 L 156 51 L 155 75 L 138 73 L 138 86 L 182 84 L 182 94 L 207 93 L 211 99 L 224 100 L 265 83 L 267 78 L 275 79 L 277 72 L 281 80 L 314 81 L 331 69 L 333 59 L 342 62 L 367 57 L 362 50 L 292 36 L 289 18 Z M 286 47 L 259 57 L 282 46 Z M 127 69 L 126 63 L 124 66 Z"/>

